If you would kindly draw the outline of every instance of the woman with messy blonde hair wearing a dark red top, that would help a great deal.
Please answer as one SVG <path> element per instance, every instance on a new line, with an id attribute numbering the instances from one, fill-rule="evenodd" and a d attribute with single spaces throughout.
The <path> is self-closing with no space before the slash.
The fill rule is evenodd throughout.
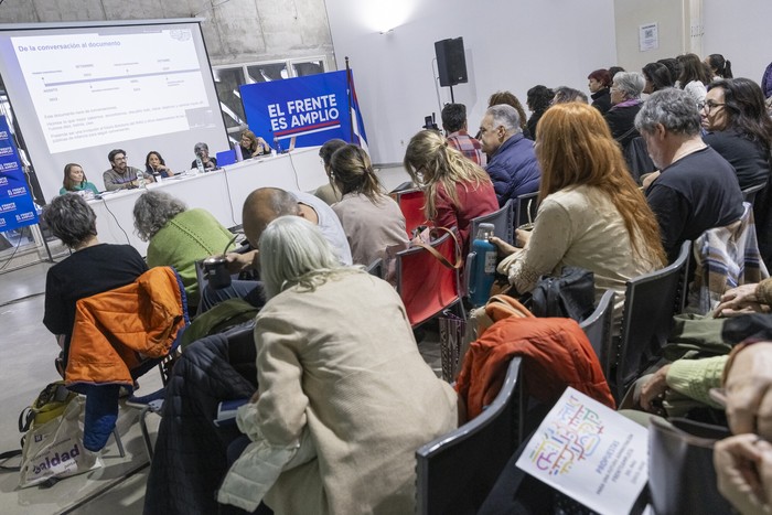
<path id="1" fill-rule="evenodd" d="M 502 107 L 517 116 L 512 107 Z M 421 130 L 410 139 L 404 164 L 412 181 L 426 193 L 427 219 L 439 227 L 457 227 L 465 256 L 472 218 L 498 208 L 487 173 L 450 148 L 433 130 Z"/>

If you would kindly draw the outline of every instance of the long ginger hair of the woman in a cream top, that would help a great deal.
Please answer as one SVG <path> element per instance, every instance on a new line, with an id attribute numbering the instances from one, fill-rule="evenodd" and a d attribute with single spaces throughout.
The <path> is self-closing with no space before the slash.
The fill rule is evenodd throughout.
<path id="1" fill-rule="evenodd" d="M 639 256 L 667 262 L 660 225 L 633 181 L 619 144 L 600 111 L 588 104 L 556 104 L 536 128 L 536 157 L 542 167 L 539 201 L 564 187 L 601 190 L 616 207 Z"/>

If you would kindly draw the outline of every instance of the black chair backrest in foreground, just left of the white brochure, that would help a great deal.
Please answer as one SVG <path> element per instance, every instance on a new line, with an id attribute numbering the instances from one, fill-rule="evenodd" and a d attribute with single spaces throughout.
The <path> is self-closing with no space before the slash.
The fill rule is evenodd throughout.
<path id="1" fill-rule="evenodd" d="M 522 438 L 521 358 L 510 363 L 498 395 L 457 430 L 416 451 L 417 512 L 475 514 Z"/>

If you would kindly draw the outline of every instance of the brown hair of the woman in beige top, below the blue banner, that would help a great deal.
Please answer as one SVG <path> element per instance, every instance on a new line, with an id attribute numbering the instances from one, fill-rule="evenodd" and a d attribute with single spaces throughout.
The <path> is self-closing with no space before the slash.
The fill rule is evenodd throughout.
<path id="1" fill-rule="evenodd" d="M 375 175 L 367 152 L 355 144 L 335 150 L 330 159 L 331 179 L 340 192 L 362 193 L 373 204 L 384 197 L 383 187 Z"/>

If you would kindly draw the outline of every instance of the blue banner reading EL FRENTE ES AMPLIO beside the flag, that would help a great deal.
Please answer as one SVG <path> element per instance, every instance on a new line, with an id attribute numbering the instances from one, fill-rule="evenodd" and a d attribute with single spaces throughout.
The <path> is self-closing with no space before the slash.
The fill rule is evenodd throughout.
<path id="1" fill-rule="evenodd" d="M 246 84 L 240 93 L 249 129 L 269 144 L 278 140 L 287 149 L 294 137 L 296 147 L 314 147 L 340 138 L 366 149 L 353 78 L 351 92 L 349 86 L 341 71 Z"/>

